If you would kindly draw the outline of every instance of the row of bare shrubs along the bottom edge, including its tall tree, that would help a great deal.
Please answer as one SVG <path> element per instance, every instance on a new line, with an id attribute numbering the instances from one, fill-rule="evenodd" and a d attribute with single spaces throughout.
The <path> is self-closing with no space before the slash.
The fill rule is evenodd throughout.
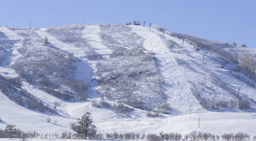
<path id="1" fill-rule="evenodd" d="M 81 118 L 78 118 L 77 122 L 70 123 L 72 132 L 58 133 L 38 133 L 23 132 L 16 128 L 16 125 L 6 125 L 5 129 L 0 129 L 0 138 L 21 138 L 26 140 L 27 138 L 35 139 L 125 139 L 125 140 L 148 140 L 148 141 L 215 141 L 215 140 L 227 140 L 227 141 L 249 141 L 250 135 L 248 133 L 223 133 L 215 135 L 213 133 L 206 133 L 200 131 L 192 131 L 190 133 L 181 134 L 175 132 L 159 132 L 159 133 L 97 133 L 97 128 L 94 125 L 94 121 L 91 118 L 91 113 L 86 112 Z M 256 140 L 256 135 L 253 136 L 253 140 Z"/>

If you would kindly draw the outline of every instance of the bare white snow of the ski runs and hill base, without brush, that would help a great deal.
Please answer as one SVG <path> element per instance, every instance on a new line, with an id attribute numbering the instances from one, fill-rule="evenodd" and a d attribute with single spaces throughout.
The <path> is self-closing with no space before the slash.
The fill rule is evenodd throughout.
<path id="1" fill-rule="evenodd" d="M 0 92 L 0 128 L 3 129 L 7 124 L 15 124 L 22 130 L 37 130 L 39 133 L 61 133 L 63 131 L 71 131 L 70 122 L 77 121 L 85 112 L 90 112 L 98 132 L 106 134 L 108 132 L 136 132 L 136 133 L 156 133 L 156 132 L 179 132 L 189 133 L 193 130 L 211 132 L 214 134 L 221 133 L 237 133 L 246 132 L 251 136 L 256 134 L 256 113 L 240 111 L 237 109 L 225 110 L 205 110 L 203 109 L 195 97 L 191 94 L 189 81 L 203 81 L 209 83 L 205 77 L 210 74 L 215 74 L 219 78 L 224 78 L 226 83 L 230 84 L 230 88 L 241 87 L 241 94 L 247 94 L 249 97 L 256 96 L 256 89 L 247 86 L 244 82 L 236 79 L 229 74 L 229 68 L 219 67 L 218 63 L 211 58 L 211 52 L 201 50 L 199 53 L 194 51 L 194 47 L 187 42 L 184 42 L 184 48 L 189 52 L 189 55 L 184 53 L 173 52 L 168 49 L 161 39 L 162 32 L 148 27 L 130 26 L 135 33 L 144 41 L 144 48 L 154 52 L 158 67 L 161 74 L 165 78 L 165 94 L 174 109 L 174 113 L 164 114 L 161 117 L 146 117 L 146 111 L 134 109 L 133 115 L 130 118 L 120 118 L 115 116 L 115 113 L 105 108 L 95 108 L 91 106 L 91 102 L 99 101 L 101 98 L 96 94 L 95 89 L 98 87 L 96 81 L 91 81 L 95 76 L 96 61 L 86 59 L 86 53 L 80 48 L 59 41 L 46 32 L 45 29 L 35 30 L 42 38 L 47 37 L 49 42 L 63 51 L 74 53 L 77 57 L 78 69 L 77 77 L 91 84 L 90 97 L 84 102 L 67 102 L 60 100 L 27 82 L 23 82 L 24 88 L 35 97 L 43 102 L 53 106 L 53 102 L 57 100 L 61 107 L 58 108 L 59 115 L 50 115 L 29 110 L 21 107 L 9 100 Z M 13 33 L 8 28 L 0 27 L 0 31 L 5 33 L 10 41 L 13 41 L 13 46 L 10 48 L 10 54 L 7 56 L 8 61 L 1 64 L 0 73 L 8 77 L 17 77 L 15 71 L 10 65 L 18 58 L 19 54 L 15 47 L 19 45 L 19 41 L 23 38 Z M 101 39 L 98 36 L 100 29 L 98 25 L 85 25 L 83 30 L 83 38 L 88 41 L 93 49 L 103 57 L 109 57 L 111 50 L 101 44 Z M 166 39 L 173 40 L 179 45 L 182 45 L 182 40 L 165 34 Z M 205 61 L 200 62 L 202 54 L 206 53 Z M 207 54 L 208 53 L 208 54 Z M 183 58 L 189 62 L 187 68 L 176 63 L 176 58 Z M 6 58 L 7 58 L 6 57 Z M 11 59 L 10 59 L 11 58 Z M 191 61 L 194 60 L 194 63 Z M 197 67 L 197 64 L 203 65 L 203 68 Z M 86 72 L 86 73 L 85 73 Z M 185 74 L 186 73 L 186 74 Z M 209 84 L 211 85 L 211 84 Z M 232 99 L 231 96 L 223 96 L 223 99 Z M 190 118 L 191 109 L 191 118 Z M 51 117 L 52 122 L 46 122 L 47 117 Z M 198 119 L 200 118 L 200 128 L 198 128 Z M 53 121 L 57 123 L 54 124 Z M 4 139 L 3 139 L 4 140 Z M 7 139 L 6 139 L 7 140 Z"/>

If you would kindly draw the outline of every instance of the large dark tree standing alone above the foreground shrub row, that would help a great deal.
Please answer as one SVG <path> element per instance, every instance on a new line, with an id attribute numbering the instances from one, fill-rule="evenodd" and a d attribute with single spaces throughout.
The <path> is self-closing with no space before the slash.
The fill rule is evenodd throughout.
<path id="1" fill-rule="evenodd" d="M 78 118 L 77 122 L 71 123 L 70 126 L 77 133 L 77 136 L 84 136 L 85 139 L 87 139 L 87 136 L 96 135 L 97 132 L 89 112 L 86 112 L 81 119 Z"/>

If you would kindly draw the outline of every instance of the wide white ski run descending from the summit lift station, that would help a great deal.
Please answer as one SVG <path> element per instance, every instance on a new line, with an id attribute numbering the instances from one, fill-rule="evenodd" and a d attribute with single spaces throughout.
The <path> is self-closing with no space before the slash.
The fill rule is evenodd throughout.
<path id="1" fill-rule="evenodd" d="M 162 39 L 156 33 L 142 26 L 130 27 L 133 28 L 135 33 L 145 39 L 144 48 L 155 53 L 157 64 L 165 78 L 165 93 L 166 95 L 171 93 L 171 99 L 169 99 L 171 106 L 183 113 L 189 113 L 190 107 L 200 110 L 201 108 L 191 94 L 189 87 L 185 87 L 190 86 L 190 83 L 186 81 L 184 67 L 177 65 L 174 59 L 174 53 L 170 52 L 169 49 L 165 47 Z M 175 39 L 175 41 L 181 42 L 182 44 L 182 41 L 179 41 L 179 39 Z M 176 55 L 176 57 L 177 56 L 178 55 Z M 175 66 L 175 69 L 173 69 L 173 66 Z M 191 103 L 187 103 L 187 99 L 189 99 Z"/>

